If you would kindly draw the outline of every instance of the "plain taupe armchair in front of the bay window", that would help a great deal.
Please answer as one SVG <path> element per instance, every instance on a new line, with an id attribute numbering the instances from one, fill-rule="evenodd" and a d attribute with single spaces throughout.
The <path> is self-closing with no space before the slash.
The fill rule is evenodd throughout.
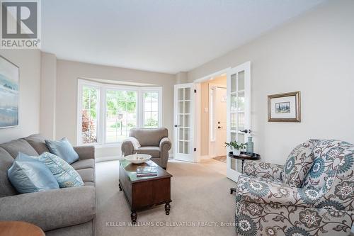
<path id="1" fill-rule="evenodd" d="M 166 128 L 132 128 L 129 136 L 122 143 L 122 153 L 125 156 L 135 153 L 150 154 L 153 162 L 166 169 L 171 149 L 169 131 Z"/>

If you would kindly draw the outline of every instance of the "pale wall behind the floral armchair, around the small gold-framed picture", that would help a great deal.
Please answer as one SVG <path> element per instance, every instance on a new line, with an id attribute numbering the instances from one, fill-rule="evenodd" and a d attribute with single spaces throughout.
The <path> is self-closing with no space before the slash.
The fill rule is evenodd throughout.
<path id="1" fill-rule="evenodd" d="M 354 143 L 354 1 L 330 1 L 188 72 L 188 80 L 251 61 L 255 151 L 284 164 L 309 138 Z M 301 123 L 269 123 L 267 96 L 302 93 Z"/>

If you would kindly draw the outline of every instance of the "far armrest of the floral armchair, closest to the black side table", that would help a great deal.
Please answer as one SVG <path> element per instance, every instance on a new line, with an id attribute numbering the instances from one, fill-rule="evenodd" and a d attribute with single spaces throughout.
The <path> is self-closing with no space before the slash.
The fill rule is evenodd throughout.
<path id="1" fill-rule="evenodd" d="M 243 171 L 248 176 L 282 180 L 282 166 L 280 164 L 245 160 Z"/>

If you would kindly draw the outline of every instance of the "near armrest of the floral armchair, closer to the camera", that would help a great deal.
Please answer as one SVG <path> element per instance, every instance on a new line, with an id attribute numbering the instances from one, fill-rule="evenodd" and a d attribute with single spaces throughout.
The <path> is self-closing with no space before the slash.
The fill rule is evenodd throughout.
<path id="1" fill-rule="evenodd" d="M 240 176 L 236 195 L 255 203 L 278 203 L 282 206 L 313 207 L 319 200 L 320 191 L 282 186 L 271 181 Z"/>

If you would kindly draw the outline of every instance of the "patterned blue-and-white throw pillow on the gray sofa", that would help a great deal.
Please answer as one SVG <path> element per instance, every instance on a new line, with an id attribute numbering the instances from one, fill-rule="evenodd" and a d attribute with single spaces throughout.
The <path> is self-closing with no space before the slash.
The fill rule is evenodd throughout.
<path id="1" fill-rule="evenodd" d="M 84 186 L 81 176 L 76 170 L 55 154 L 43 152 L 39 157 L 34 157 L 43 162 L 54 175 L 60 188 Z"/>

